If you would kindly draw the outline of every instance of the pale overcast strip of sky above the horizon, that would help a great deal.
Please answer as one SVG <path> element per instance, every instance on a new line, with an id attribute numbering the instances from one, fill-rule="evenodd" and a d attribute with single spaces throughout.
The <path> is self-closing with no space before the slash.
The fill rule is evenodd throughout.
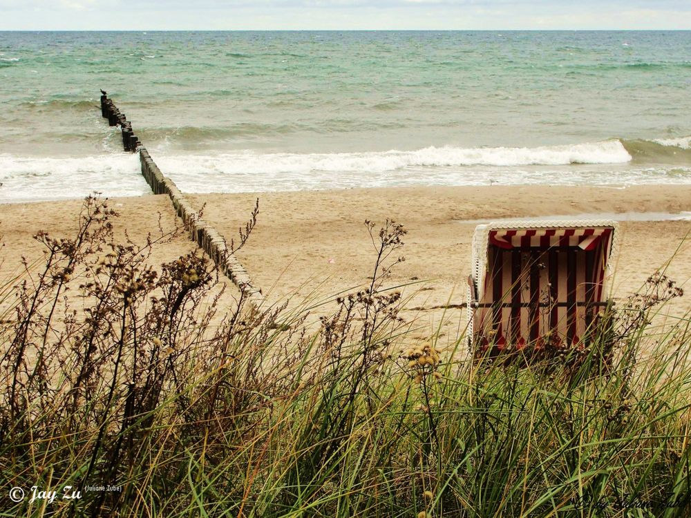
<path id="1" fill-rule="evenodd" d="M 0 30 L 691 29 L 691 0 L 0 0 Z"/>

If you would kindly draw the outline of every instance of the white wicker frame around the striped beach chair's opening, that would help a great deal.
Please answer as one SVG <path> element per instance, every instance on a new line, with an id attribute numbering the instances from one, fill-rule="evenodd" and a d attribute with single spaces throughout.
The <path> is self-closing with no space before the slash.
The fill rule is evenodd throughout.
<path id="1" fill-rule="evenodd" d="M 580 229 L 588 227 L 612 227 L 612 244 L 609 247 L 609 256 L 605 263 L 605 280 L 603 282 L 603 293 L 605 293 L 607 280 L 614 274 L 614 263 L 619 253 L 618 222 L 614 220 L 506 220 L 477 225 L 475 233 L 473 233 L 473 256 L 471 258 L 471 276 L 468 280 L 468 303 L 466 306 L 468 347 L 473 345 L 473 320 L 475 319 L 475 304 L 478 302 L 474 295 L 479 294 L 481 287 L 484 286 L 487 271 L 489 233 L 493 230 L 502 229 Z"/>

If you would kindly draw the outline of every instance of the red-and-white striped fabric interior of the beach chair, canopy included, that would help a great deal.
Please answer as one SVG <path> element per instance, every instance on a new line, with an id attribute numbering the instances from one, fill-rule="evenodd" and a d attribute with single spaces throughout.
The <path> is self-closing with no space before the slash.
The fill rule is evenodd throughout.
<path id="1" fill-rule="evenodd" d="M 611 237 L 606 227 L 492 230 L 473 325 L 481 342 L 581 343 L 601 309 Z"/>

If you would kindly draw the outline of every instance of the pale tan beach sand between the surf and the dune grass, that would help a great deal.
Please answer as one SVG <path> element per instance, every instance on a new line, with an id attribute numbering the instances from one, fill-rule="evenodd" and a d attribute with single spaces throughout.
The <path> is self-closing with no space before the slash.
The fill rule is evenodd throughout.
<path id="1" fill-rule="evenodd" d="M 386 285 L 407 285 L 404 318 L 426 325 L 446 319 L 444 334 L 465 323 L 459 306 L 466 298 L 470 273 L 471 239 L 477 222 L 495 218 L 529 218 L 584 213 L 691 211 L 691 186 L 603 187 L 486 186 L 406 187 L 301 191 L 259 194 L 189 195 L 204 218 L 230 240 L 259 198 L 258 224 L 249 242 L 238 252 L 269 303 L 292 298 L 296 305 L 334 296 L 368 282 L 375 249 L 364 225 L 393 219 L 408 231 L 399 255 L 406 258 L 392 271 Z M 76 228 L 81 202 L 40 202 L 0 205 L 0 235 L 5 246 L 0 274 L 16 270 L 21 255 L 40 257 L 32 234 L 48 230 L 56 236 Z M 115 198 L 111 206 L 121 213 L 116 231 L 124 229 L 136 242 L 164 230 L 176 220 L 164 195 Z M 681 316 L 691 309 L 691 222 L 623 221 L 621 251 L 611 287 L 622 299 L 639 289 L 656 269 L 685 285 L 690 293 L 674 300 L 669 311 Z M 193 249 L 186 236 L 157 245 L 151 261 L 163 262 Z M 229 296 L 236 296 L 229 290 Z M 230 304 L 231 300 L 227 300 Z M 322 308 L 324 311 L 326 308 Z M 316 309 L 318 314 L 321 309 Z"/>

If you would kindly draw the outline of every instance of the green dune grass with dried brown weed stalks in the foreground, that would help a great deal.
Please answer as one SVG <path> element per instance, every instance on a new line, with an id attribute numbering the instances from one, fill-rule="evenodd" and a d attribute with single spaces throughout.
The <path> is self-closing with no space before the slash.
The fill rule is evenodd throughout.
<path id="1" fill-rule="evenodd" d="M 472 358 L 400 318 L 398 224 L 368 223 L 371 284 L 310 325 L 323 307 L 221 308 L 205 258 L 152 269 L 115 216 L 88 198 L 0 288 L 1 516 L 690 514 L 691 319 L 652 325 L 664 276 L 587 349 Z"/>

